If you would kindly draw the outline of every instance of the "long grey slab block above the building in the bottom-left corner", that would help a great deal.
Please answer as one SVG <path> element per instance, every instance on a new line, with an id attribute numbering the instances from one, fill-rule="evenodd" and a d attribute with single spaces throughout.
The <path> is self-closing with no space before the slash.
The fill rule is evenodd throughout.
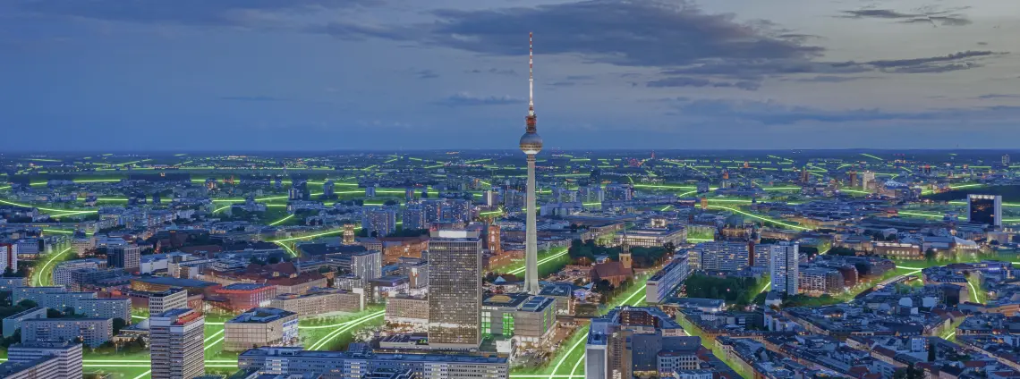
<path id="1" fill-rule="evenodd" d="M 21 342 L 73 341 L 97 347 L 113 336 L 111 319 L 31 319 L 21 321 Z"/>

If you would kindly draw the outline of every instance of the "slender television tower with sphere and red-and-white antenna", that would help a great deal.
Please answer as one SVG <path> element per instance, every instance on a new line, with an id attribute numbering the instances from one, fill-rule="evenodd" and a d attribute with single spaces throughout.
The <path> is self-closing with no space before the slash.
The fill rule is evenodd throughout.
<path id="1" fill-rule="evenodd" d="M 527 156 L 527 222 L 524 237 L 524 291 L 539 294 L 539 235 L 537 232 L 534 201 L 534 155 L 542 151 L 542 138 L 536 128 L 538 117 L 534 115 L 534 66 L 533 50 L 531 49 L 531 34 L 527 34 L 527 116 L 524 123 L 527 128 L 520 137 L 520 151 Z"/>

